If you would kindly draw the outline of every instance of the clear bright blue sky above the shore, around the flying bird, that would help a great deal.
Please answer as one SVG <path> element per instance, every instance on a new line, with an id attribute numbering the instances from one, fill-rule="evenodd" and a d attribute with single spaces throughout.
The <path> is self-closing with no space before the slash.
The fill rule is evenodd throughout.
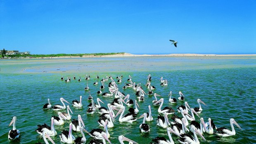
<path id="1" fill-rule="evenodd" d="M 256 54 L 256 0 L 0 0 L 3 48 Z"/>

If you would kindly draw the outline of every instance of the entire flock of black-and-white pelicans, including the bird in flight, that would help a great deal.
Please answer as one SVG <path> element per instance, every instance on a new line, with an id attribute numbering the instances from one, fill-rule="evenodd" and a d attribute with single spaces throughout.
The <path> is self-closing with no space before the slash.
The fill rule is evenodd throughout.
<path id="1" fill-rule="evenodd" d="M 173 41 L 175 47 L 177 43 L 178 42 Z M 47 111 L 52 113 L 52 118 L 50 120 L 51 125 L 48 126 L 46 123 L 48 123 L 49 119 L 45 119 L 45 123 L 43 125 L 37 125 L 38 128 L 36 129 L 36 132 L 43 137 L 44 142 L 48 144 L 46 139 L 48 138 L 52 144 L 55 144 L 51 137 L 58 135 L 58 131 L 59 142 L 67 144 L 86 144 L 89 137 L 92 137 L 90 138 L 90 142 L 88 141 L 89 144 L 111 144 L 111 140 L 117 140 L 116 137 L 110 137 L 110 135 L 116 133 L 116 128 L 122 129 L 121 127 L 123 127 L 123 129 L 126 129 L 126 124 L 123 123 L 127 123 L 128 125 L 138 125 L 138 130 L 140 130 L 142 133 L 148 133 L 148 135 L 158 135 L 155 128 L 167 130 L 167 135 L 158 135 L 157 137 L 154 136 L 155 138 L 152 139 L 150 144 L 174 144 L 178 142 L 183 144 L 199 144 L 201 140 L 206 140 L 204 137 L 205 135 L 218 135 L 222 137 L 235 135 L 236 132 L 233 124 L 237 125 L 237 127 L 242 130 L 242 128 L 233 118 L 230 118 L 231 130 L 225 127 L 217 128 L 211 118 L 208 118 L 205 123 L 204 118 L 201 117 L 205 116 L 201 114 L 203 113 L 201 104 L 206 106 L 206 108 L 204 107 L 206 109 L 205 111 L 207 111 L 207 105 L 199 98 L 196 100 L 196 103 L 195 98 L 191 98 L 189 96 L 186 97 L 185 101 L 185 96 L 181 91 L 174 93 L 173 91 L 169 90 L 168 97 L 162 97 L 160 94 L 154 93 L 154 90 L 160 90 L 163 88 L 164 90 L 160 90 L 159 93 L 166 94 L 165 90 L 167 90 L 169 87 L 167 85 L 168 80 L 163 79 L 163 77 L 160 78 L 160 82 L 161 85 L 165 85 L 166 87 L 152 86 L 151 84 L 154 82 L 154 78 L 152 78 L 151 74 L 149 74 L 147 79 L 145 79 L 144 83 L 146 87 L 142 87 L 143 83 L 133 83 L 132 77 L 129 75 L 127 81 L 130 83 L 125 83 L 123 89 L 119 89 L 119 87 L 121 86 L 121 80 L 124 78 L 124 76 L 121 75 L 119 77 L 118 75 L 114 77 L 116 78 L 117 83 L 113 77 L 111 75 L 106 76 L 106 78 L 103 77 L 101 80 L 102 85 L 98 86 L 98 74 L 96 79 L 92 78 L 96 80 L 95 83 L 90 83 L 90 76 L 86 75 L 86 87 L 84 89 L 81 87 L 81 90 L 85 92 L 85 95 L 88 95 L 88 100 L 90 101 L 82 101 L 82 95 L 80 96 L 79 100 L 71 96 L 65 96 L 66 99 L 70 101 L 72 98 L 75 99 L 71 103 L 73 110 L 71 110 L 69 105 L 65 105 L 66 103 L 70 103 L 63 97 L 58 98 L 62 105 L 55 104 L 52 106 L 50 99 L 47 99 L 48 103 L 42 105 L 45 112 Z M 73 80 L 75 79 L 75 75 L 73 75 Z M 64 80 L 63 76 L 61 80 Z M 109 80 L 110 82 L 108 82 Z M 137 81 L 135 76 L 133 76 L 133 80 Z M 80 76 L 79 81 L 81 81 Z M 67 76 L 66 82 L 70 82 L 69 84 L 75 83 L 73 81 L 71 82 L 70 76 Z M 104 83 L 109 83 L 108 89 L 107 87 L 105 89 Z M 92 86 L 91 90 L 100 89 L 98 92 L 95 91 L 94 95 L 97 97 L 97 103 L 94 103 L 94 99 L 91 96 L 90 91 L 89 93 L 84 91 L 89 90 L 89 85 Z M 143 90 L 143 88 L 147 89 L 146 92 L 149 92 L 146 96 L 146 92 Z M 123 90 L 123 92 L 120 90 Z M 125 96 L 124 93 L 127 92 L 130 93 L 126 94 Z M 152 97 L 153 93 L 154 97 Z M 179 94 L 180 97 L 175 99 L 172 97 L 172 94 Z M 161 97 L 161 99 L 157 100 L 157 96 Z M 105 104 L 101 99 L 104 102 L 107 102 L 107 104 Z M 54 98 L 51 98 L 51 100 L 54 100 Z M 188 104 L 187 100 L 190 101 L 190 105 Z M 145 101 L 149 102 L 149 105 L 145 105 Z M 83 104 L 88 105 L 87 110 L 83 108 Z M 163 105 L 166 105 L 166 107 L 162 108 Z M 198 107 L 190 108 L 192 105 Z M 138 108 L 140 108 L 140 110 Z M 40 109 L 42 109 L 41 106 Z M 174 109 L 177 109 L 177 111 Z M 73 114 L 73 112 L 76 114 L 76 116 L 78 116 L 77 119 L 72 119 L 71 114 Z M 47 113 L 45 114 L 47 115 Z M 138 114 L 141 116 L 137 118 Z M 119 118 L 116 120 L 118 116 Z M 142 122 L 139 121 L 140 118 L 143 118 Z M 9 130 L 8 134 L 8 139 L 10 140 L 17 138 L 19 139 L 20 131 L 16 129 L 16 120 L 17 117 L 14 116 L 9 124 L 9 126 L 13 124 L 12 130 Z M 98 123 L 100 128 L 93 127 L 93 129 L 88 132 L 86 129 L 89 127 L 92 128 L 92 125 L 94 125 L 93 123 Z M 112 129 L 113 127 L 115 130 Z M 150 129 L 152 127 L 153 129 Z M 111 130 L 109 131 L 108 128 Z M 86 133 L 84 134 L 83 132 Z M 171 135 L 171 133 L 174 135 Z M 136 136 L 125 132 L 118 134 L 118 141 L 121 144 L 124 144 L 124 141 L 127 141 L 129 144 L 138 144 L 132 139 L 128 139 L 124 135 L 130 135 L 129 137 L 137 137 L 137 139 L 140 139 L 141 137 L 139 135 Z M 201 138 L 199 139 L 198 136 Z M 172 137 L 175 137 L 174 140 L 176 142 Z M 57 141 L 57 139 L 55 139 L 55 141 Z"/>

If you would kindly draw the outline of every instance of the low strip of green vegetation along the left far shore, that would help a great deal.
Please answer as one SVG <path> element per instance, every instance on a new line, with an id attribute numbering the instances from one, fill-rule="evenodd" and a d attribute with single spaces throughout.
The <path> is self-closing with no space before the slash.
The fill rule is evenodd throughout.
<path id="1" fill-rule="evenodd" d="M 114 55 L 124 54 L 124 52 L 111 52 L 111 53 L 92 53 L 92 54 L 12 54 L 5 57 L 19 58 L 19 57 L 83 57 L 83 56 L 102 56 L 102 55 Z"/>

